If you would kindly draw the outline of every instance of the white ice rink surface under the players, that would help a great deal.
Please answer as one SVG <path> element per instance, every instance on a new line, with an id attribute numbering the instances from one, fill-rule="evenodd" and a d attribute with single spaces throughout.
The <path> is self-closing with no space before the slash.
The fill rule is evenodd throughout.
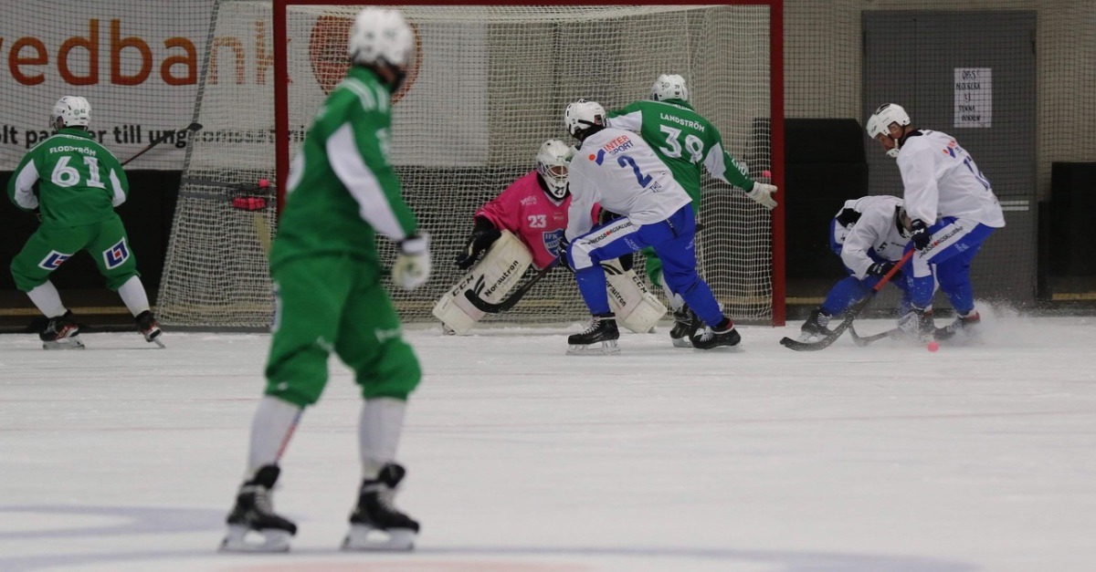
<path id="1" fill-rule="evenodd" d="M 0 571 L 1094 570 L 1096 319 L 983 322 L 935 354 L 796 353 L 798 322 L 603 357 L 564 355 L 580 324 L 409 331 L 403 554 L 338 550 L 359 479 L 338 362 L 282 464 L 293 552 L 219 554 L 269 336 L 0 335 Z"/>

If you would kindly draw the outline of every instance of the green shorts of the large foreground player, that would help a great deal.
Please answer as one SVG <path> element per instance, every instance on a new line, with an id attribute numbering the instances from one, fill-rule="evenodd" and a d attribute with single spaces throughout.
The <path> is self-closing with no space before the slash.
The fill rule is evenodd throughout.
<path id="1" fill-rule="evenodd" d="M 274 335 L 266 394 L 300 407 L 320 399 L 331 352 L 354 370 L 362 397 L 407 399 L 422 370 L 376 263 L 349 255 L 285 261 L 272 272 Z"/>

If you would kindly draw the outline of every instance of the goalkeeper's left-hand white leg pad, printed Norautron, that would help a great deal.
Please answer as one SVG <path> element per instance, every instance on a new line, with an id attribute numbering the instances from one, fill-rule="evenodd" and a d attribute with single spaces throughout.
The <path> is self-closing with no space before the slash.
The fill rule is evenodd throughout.
<path id="1" fill-rule="evenodd" d="M 530 264 L 529 249 L 512 232 L 503 230 L 468 274 L 437 300 L 432 310 L 434 318 L 458 334 L 468 333 L 483 318 L 483 310 L 472 306 L 465 291 L 472 290 L 484 301 L 501 301 Z"/>

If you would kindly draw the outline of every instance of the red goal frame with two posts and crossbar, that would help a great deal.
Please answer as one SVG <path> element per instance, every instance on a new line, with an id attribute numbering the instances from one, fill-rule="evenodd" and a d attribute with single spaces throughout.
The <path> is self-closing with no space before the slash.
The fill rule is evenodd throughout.
<path id="1" fill-rule="evenodd" d="M 277 213 L 282 213 L 285 204 L 285 182 L 289 175 L 289 75 L 288 75 L 288 35 L 286 31 L 286 10 L 290 5 L 326 5 L 326 4 L 358 4 L 340 0 L 273 0 L 274 23 L 274 158 L 275 188 L 277 191 Z M 610 2 L 499 2 L 484 0 L 478 2 L 415 2 L 409 5 L 568 5 L 568 4 L 604 4 Z M 636 4 L 665 4 L 663 1 L 633 2 Z M 701 2 L 686 2 L 701 5 Z M 784 0 L 733 0 L 717 2 L 728 5 L 767 5 L 769 9 L 769 112 L 770 121 L 770 157 L 773 165 L 773 184 L 785 191 L 784 179 Z M 785 226 L 784 209 L 787 193 L 777 194 L 777 206 L 770 211 L 770 234 L 773 241 L 773 325 L 785 324 L 786 266 L 785 266 Z"/>

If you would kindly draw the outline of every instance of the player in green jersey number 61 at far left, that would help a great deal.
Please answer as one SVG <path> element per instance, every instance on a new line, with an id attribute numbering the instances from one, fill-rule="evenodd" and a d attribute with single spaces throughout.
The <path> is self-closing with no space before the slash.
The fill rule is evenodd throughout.
<path id="1" fill-rule="evenodd" d="M 11 261 L 11 274 L 15 286 L 49 318 L 38 334 L 43 347 L 83 348 L 80 327 L 61 304 L 49 274 L 77 252 L 88 251 L 106 287 L 117 291 L 134 314 L 145 340 L 163 347 L 129 239 L 114 211 L 126 201 L 129 182 L 114 155 L 88 133 L 89 123 L 88 100 L 61 98 L 49 116 L 57 133 L 31 149 L 12 173 L 8 197 L 23 210 L 39 210 L 42 226 Z"/>

